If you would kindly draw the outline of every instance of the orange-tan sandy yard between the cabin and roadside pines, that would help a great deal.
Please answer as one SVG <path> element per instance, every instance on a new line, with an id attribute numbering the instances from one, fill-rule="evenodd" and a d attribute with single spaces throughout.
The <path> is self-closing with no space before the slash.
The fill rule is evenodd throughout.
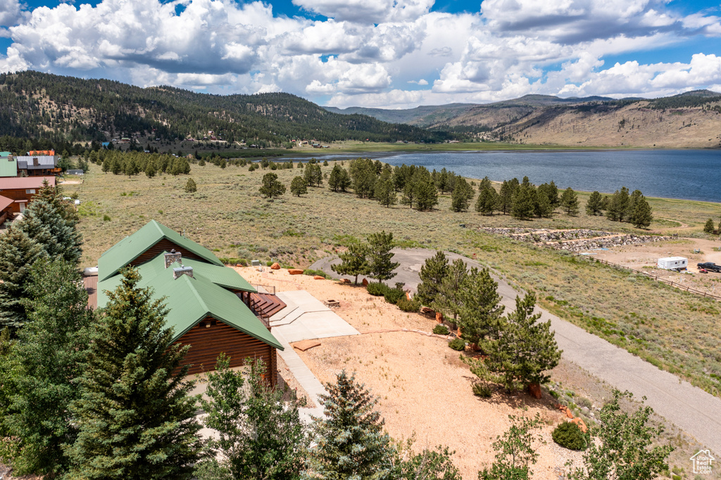
<path id="1" fill-rule="evenodd" d="M 361 287 L 288 275 L 285 270 L 236 270 L 250 283 L 275 285 L 278 291 L 306 290 L 321 301 L 339 300 L 336 313 L 362 335 L 322 339 L 319 347 L 298 355 L 324 383 L 334 381 L 344 368 L 355 372 L 358 381 L 379 397 L 378 408 L 392 437 L 399 440 L 415 434 L 418 449 L 448 445 L 456 450 L 454 462 L 464 479 L 477 478 L 477 471 L 492 462 L 491 443 L 510 426 L 509 414 L 538 413 L 544 420 L 541 433 L 546 444 L 537 445 L 541 457 L 533 468 L 534 479 L 558 479 L 568 460 L 580 462 L 580 454 L 552 440 L 553 427 L 563 420 L 552 397 L 544 394 L 536 400 L 526 393 L 509 396 L 497 391 L 490 399 L 480 399 L 471 391 L 474 375 L 459 353 L 448 348 L 446 339 L 391 332 L 402 328 L 430 332 L 435 319 L 406 314 Z"/>

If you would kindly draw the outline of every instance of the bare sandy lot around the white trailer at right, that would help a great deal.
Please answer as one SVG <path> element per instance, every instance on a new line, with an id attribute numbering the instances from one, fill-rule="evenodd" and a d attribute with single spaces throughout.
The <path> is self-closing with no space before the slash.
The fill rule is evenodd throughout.
<path id="1" fill-rule="evenodd" d="M 714 272 L 699 273 L 696 264 L 714 262 L 721 265 L 721 241 L 707 239 L 679 239 L 678 241 L 665 241 L 658 243 L 619 246 L 608 250 L 595 250 L 593 257 L 604 259 L 607 262 L 624 267 L 647 272 L 650 275 L 681 283 L 712 295 L 721 296 L 721 275 Z M 699 250 L 700 253 L 695 253 Z M 662 257 L 686 257 L 689 259 L 688 272 L 679 273 L 663 270 L 657 267 L 658 259 Z"/>

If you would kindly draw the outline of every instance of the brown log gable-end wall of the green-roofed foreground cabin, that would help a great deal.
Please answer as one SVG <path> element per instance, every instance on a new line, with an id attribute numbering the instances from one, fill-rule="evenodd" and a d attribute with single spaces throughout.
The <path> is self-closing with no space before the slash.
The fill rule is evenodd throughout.
<path id="1" fill-rule="evenodd" d="M 215 321 L 215 325 L 206 327 L 206 322 Z M 267 345 L 258 339 L 244 334 L 232 326 L 224 324 L 211 316 L 205 317 L 176 342 L 180 345 L 190 345 L 185 355 L 184 365 L 192 364 L 190 375 L 215 370 L 216 359 L 221 352 L 231 357 L 230 366 L 244 365 L 247 358 L 260 358 L 266 365 L 265 378 L 270 379 L 275 386 L 278 363 L 275 347 Z"/>

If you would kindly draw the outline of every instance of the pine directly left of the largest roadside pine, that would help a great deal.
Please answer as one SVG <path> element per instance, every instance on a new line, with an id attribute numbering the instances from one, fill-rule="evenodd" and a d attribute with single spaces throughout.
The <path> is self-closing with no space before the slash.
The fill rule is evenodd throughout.
<path id="1" fill-rule="evenodd" d="M 498 295 L 498 284 L 487 268 L 471 269 L 460 288 L 461 310 L 458 324 L 461 338 L 479 345 L 485 339 L 496 340 L 503 323 L 503 305 Z"/>

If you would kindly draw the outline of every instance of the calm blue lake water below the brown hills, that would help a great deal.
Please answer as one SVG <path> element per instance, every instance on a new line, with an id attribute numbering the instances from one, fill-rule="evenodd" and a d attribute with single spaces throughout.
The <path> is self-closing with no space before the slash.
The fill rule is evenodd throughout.
<path id="1" fill-rule="evenodd" d="M 721 202 L 721 150 L 483 151 L 363 155 L 392 165 L 446 167 L 464 177 L 502 182 L 528 176 L 536 185 L 613 193 L 621 187 L 647 197 Z M 350 158 L 348 155 L 319 155 Z"/>

